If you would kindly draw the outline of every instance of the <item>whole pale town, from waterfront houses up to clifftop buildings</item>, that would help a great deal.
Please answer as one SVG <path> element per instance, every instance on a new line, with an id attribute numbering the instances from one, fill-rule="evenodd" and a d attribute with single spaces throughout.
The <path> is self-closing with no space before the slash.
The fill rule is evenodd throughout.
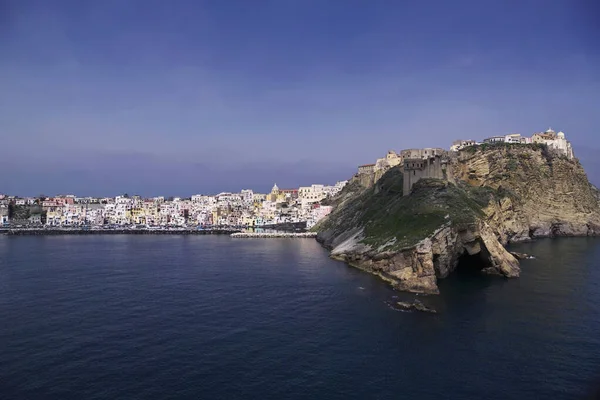
<path id="1" fill-rule="evenodd" d="M 531 137 L 508 134 L 493 136 L 481 143 L 457 140 L 449 150 L 390 150 L 375 163 L 360 165 L 352 179 L 372 183 L 390 168 L 399 166 L 405 174 L 403 193 L 406 195 L 418 179 L 443 179 L 444 166 L 453 154 L 471 151 L 478 146 L 498 145 L 544 146 L 549 151 L 574 158 L 571 143 L 565 134 L 549 128 Z M 294 189 L 280 189 L 275 184 L 266 194 L 244 189 L 239 193 L 198 194 L 189 198 L 142 198 L 127 194 L 102 198 L 0 194 L 0 232 L 51 234 L 80 230 L 90 233 L 231 233 L 261 228 L 299 231 L 312 228 L 331 213 L 330 199 L 347 183 L 339 181 L 335 185 L 313 184 Z"/>

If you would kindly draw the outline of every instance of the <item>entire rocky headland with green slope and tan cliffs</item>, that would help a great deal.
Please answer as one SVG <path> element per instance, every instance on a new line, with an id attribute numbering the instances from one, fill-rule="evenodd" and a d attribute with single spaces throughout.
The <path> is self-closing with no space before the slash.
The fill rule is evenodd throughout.
<path id="1" fill-rule="evenodd" d="M 317 239 L 398 289 L 437 293 L 461 258 L 516 277 L 508 242 L 600 233 L 597 190 L 576 160 L 537 146 L 480 147 L 459 153 L 451 170 L 454 183 L 421 180 L 408 196 L 398 167 L 372 187 L 352 182 Z"/>

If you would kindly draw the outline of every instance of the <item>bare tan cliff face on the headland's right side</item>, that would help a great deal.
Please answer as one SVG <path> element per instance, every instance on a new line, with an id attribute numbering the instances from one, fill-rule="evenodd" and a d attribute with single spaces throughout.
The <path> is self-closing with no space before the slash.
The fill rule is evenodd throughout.
<path id="1" fill-rule="evenodd" d="M 577 160 L 543 147 L 474 148 L 459 153 L 453 174 L 503 195 L 485 210 L 503 242 L 600 232 L 597 189 Z"/>

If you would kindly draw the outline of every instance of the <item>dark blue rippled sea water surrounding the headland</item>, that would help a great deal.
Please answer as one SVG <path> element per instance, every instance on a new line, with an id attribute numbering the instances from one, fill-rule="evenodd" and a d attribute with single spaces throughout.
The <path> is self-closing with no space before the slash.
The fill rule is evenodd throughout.
<path id="1" fill-rule="evenodd" d="M 2 399 L 569 399 L 600 377 L 600 240 L 410 298 L 310 239 L 0 237 Z"/>

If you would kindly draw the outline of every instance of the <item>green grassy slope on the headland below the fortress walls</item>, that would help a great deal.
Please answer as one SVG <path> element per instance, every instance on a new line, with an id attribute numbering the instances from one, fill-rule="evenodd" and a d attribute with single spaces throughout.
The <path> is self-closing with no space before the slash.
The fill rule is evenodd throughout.
<path id="1" fill-rule="evenodd" d="M 400 169 L 391 169 L 374 187 L 341 204 L 315 230 L 343 232 L 362 227 L 363 243 L 387 244 L 388 250 L 397 250 L 414 246 L 446 223 L 475 222 L 496 194 L 489 188 L 422 179 L 409 196 L 403 196 L 402 184 Z"/>

